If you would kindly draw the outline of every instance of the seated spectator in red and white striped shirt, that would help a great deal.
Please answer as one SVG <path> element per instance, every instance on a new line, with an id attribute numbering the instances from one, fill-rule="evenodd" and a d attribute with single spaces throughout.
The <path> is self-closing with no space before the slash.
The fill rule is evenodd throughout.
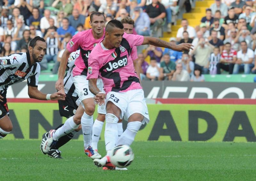
<path id="1" fill-rule="evenodd" d="M 224 50 L 221 53 L 220 63 L 217 64 L 217 74 L 220 74 L 220 69 L 232 74 L 235 63 L 236 51 L 231 49 L 231 44 L 229 42 L 225 43 Z"/>

